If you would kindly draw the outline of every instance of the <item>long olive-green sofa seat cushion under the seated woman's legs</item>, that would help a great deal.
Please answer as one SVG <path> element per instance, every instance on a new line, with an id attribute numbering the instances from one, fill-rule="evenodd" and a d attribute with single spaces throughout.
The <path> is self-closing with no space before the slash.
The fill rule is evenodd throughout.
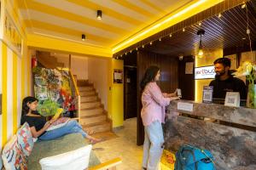
<path id="1" fill-rule="evenodd" d="M 39 161 L 44 157 L 56 156 L 71 150 L 77 150 L 88 143 L 81 133 L 70 133 L 52 140 L 40 140 L 34 144 L 32 154 L 28 157 L 27 167 L 32 170 L 40 170 Z M 101 161 L 96 157 L 93 151 L 90 152 L 89 167 L 100 164 Z"/>

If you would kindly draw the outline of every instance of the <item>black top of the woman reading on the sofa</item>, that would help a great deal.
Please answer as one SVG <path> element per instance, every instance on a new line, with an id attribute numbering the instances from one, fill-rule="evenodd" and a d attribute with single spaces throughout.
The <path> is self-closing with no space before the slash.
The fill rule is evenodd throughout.
<path id="1" fill-rule="evenodd" d="M 46 123 L 46 117 L 45 116 L 21 116 L 20 124 L 23 125 L 25 122 L 29 124 L 29 127 L 35 127 L 36 130 L 39 131 L 44 127 L 44 124 Z M 44 133 L 42 133 L 41 135 L 43 135 Z"/>

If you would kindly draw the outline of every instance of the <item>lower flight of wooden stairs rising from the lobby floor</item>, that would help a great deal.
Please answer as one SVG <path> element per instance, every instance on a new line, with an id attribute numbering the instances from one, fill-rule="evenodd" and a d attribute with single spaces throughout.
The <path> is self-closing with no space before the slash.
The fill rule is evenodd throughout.
<path id="1" fill-rule="evenodd" d="M 80 94 L 79 122 L 84 130 L 93 133 L 112 131 L 112 122 L 93 85 L 85 80 L 78 80 L 77 84 Z"/>

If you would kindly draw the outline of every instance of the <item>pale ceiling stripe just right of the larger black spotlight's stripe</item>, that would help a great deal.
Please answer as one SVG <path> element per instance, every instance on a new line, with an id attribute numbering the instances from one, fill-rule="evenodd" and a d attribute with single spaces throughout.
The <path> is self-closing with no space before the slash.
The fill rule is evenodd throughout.
<path id="1" fill-rule="evenodd" d="M 104 7 L 111 8 L 120 14 L 125 14 L 126 16 L 132 17 L 136 20 L 141 20 L 142 22 L 145 22 L 145 20 L 147 21 L 149 19 L 148 16 L 145 16 L 136 11 L 133 11 L 130 8 L 125 8 L 124 6 L 119 5 L 118 3 L 113 3 L 112 1 L 102 1 L 102 0 L 90 0 L 90 1 L 93 3 L 97 3 L 99 5 L 102 5 Z"/>

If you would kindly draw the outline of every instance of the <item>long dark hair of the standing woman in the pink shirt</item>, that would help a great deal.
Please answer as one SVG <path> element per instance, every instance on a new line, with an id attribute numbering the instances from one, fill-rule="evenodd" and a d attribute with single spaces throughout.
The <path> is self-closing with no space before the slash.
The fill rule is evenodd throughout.
<path id="1" fill-rule="evenodd" d="M 151 65 L 148 67 L 141 82 L 142 90 L 147 86 L 148 82 L 154 82 L 154 77 L 157 75 L 158 71 L 160 71 L 160 68 L 156 65 Z"/>

